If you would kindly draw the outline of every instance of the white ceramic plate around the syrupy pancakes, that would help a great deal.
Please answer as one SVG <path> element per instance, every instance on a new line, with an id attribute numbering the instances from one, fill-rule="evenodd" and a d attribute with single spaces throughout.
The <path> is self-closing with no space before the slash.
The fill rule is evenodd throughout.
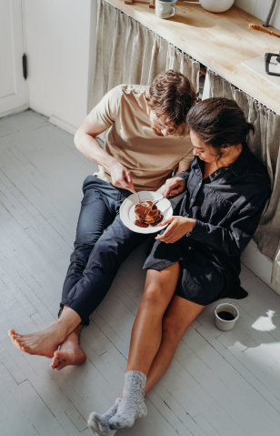
<path id="1" fill-rule="evenodd" d="M 138 195 L 141 201 L 145 201 L 145 200 L 155 201 L 159 198 L 163 198 L 161 194 L 151 191 L 141 191 L 138 192 Z M 138 203 L 139 203 L 138 197 L 136 196 L 136 194 L 132 194 L 131 196 L 125 198 L 124 203 L 120 207 L 120 218 L 127 228 L 130 228 L 136 233 L 155 233 L 158 230 L 165 228 L 167 226 L 167 224 L 165 226 L 155 226 L 155 227 L 149 226 L 147 228 L 141 228 L 135 226 L 135 206 Z M 167 200 L 167 198 L 163 198 L 162 201 L 159 201 L 156 204 L 156 207 L 164 215 L 163 221 L 173 216 L 173 208 L 171 206 L 170 201 Z"/>

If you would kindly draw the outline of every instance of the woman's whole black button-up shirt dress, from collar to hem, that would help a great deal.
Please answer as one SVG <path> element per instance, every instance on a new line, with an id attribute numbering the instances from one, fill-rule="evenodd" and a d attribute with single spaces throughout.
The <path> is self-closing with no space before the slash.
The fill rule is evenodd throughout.
<path id="1" fill-rule="evenodd" d="M 195 157 L 192 166 L 177 175 L 185 180 L 186 194 L 174 215 L 195 218 L 195 227 L 174 244 L 155 241 L 144 266 L 161 270 L 180 262 L 175 294 L 201 305 L 247 295 L 240 287 L 240 255 L 271 193 L 265 167 L 247 146 L 232 165 L 218 168 L 205 180 L 204 165 Z"/>

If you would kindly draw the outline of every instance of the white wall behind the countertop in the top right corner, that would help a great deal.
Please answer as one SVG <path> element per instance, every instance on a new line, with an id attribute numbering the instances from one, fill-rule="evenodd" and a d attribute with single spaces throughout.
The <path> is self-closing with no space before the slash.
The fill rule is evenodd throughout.
<path id="1" fill-rule="evenodd" d="M 235 0 L 236 6 L 263 20 L 264 23 L 271 4 L 272 0 Z M 280 30 L 280 0 L 276 2 L 275 12 L 272 15 L 270 24 Z"/>

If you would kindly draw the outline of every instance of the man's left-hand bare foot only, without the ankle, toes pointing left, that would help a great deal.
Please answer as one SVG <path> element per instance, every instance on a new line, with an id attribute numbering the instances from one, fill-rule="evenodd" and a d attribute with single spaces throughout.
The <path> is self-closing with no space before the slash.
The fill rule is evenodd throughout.
<path id="1" fill-rule="evenodd" d="M 58 321 L 53 322 L 44 330 L 35 331 L 35 333 L 20 335 L 11 329 L 8 331 L 8 335 L 19 350 L 46 358 L 54 357 L 55 350 L 65 340 L 65 335 L 60 329 Z"/>

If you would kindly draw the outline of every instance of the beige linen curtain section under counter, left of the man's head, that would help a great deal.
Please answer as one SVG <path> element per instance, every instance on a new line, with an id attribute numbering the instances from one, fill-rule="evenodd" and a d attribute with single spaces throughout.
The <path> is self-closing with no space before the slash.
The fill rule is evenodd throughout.
<path id="1" fill-rule="evenodd" d="M 105 0 L 98 0 L 95 76 L 90 108 L 121 84 L 151 85 L 168 69 L 185 74 L 199 90 L 199 63 Z"/>

